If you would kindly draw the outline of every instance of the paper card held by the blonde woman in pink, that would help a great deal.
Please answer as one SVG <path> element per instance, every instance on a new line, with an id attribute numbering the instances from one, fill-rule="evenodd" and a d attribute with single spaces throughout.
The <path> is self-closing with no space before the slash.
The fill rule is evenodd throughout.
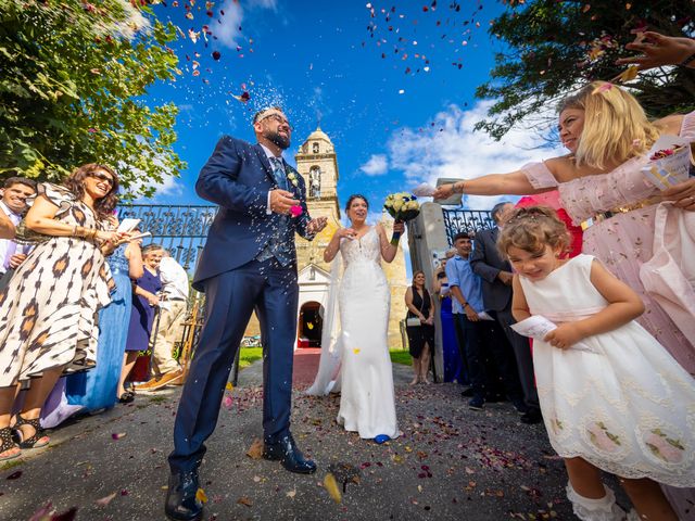
<path id="1" fill-rule="evenodd" d="M 669 155 L 666 155 L 669 154 Z M 691 147 L 686 139 L 679 136 L 661 136 L 647 152 L 650 160 L 642 167 L 642 175 L 659 190 L 667 190 L 687 180 L 692 163 Z"/>

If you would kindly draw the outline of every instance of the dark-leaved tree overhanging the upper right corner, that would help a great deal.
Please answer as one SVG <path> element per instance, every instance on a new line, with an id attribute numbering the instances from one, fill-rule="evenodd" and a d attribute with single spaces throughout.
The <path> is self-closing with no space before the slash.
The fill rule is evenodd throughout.
<path id="1" fill-rule="evenodd" d="M 695 30 L 695 2 L 690 0 L 504 3 L 507 9 L 493 21 L 490 34 L 507 50 L 496 54 L 492 79 L 476 91 L 478 98 L 496 100 L 489 118 L 477 125 L 496 139 L 587 81 L 618 76 L 624 67 L 616 59 L 632 53 L 623 48 L 634 39 L 631 29 L 646 26 L 669 36 Z M 693 69 L 645 71 L 626 85 L 652 117 L 695 109 Z"/>

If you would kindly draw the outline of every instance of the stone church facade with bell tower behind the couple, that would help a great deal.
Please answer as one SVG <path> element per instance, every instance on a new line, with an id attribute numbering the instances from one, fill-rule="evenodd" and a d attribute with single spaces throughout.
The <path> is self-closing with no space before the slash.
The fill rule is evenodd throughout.
<path id="1" fill-rule="evenodd" d="M 328 300 L 331 265 L 324 262 L 324 249 L 333 232 L 342 225 L 338 201 L 338 157 L 330 138 L 317 128 L 300 147 L 294 156 L 296 170 L 306 185 L 306 205 L 312 217 L 326 217 L 328 225 L 313 241 L 296 236 L 296 260 L 300 285 L 298 313 L 298 345 L 318 347 L 323 332 L 323 309 Z M 381 206 L 381 201 L 370 201 L 371 208 Z M 388 234 L 393 220 L 382 214 L 382 223 Z M 401 321 L 405 318 L 405 291 L 408 285 L 405 274 L 403 250 L 392 263 L 382 263 L 391 289 L 391 313 L 389 318 L 389 347 L 404 346 Z M 248 335 L 258 333 L 258 325 L 253 317 L 247 330 Z"/>

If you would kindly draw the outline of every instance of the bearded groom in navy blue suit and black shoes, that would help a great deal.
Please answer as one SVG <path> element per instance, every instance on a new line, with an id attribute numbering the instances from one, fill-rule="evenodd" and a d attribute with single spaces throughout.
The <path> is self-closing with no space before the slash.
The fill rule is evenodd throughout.
<path id="1" fill-rule="evenodd" d="M 254 145 L 224 136 L 195 183 L 198 194 L 219 205 L 219 212 L 193 278 L 193 288 L 206 296 L 205 323 L 174 425 L 165 506 L 174 520 L 202 516 L 195 498 L 198 467 L 254 309 L 264 347 L 263 457 L 281 461 L 291 472 L 316 470 L 290 433 L 299 298 L 294 232 L 312 240 L 326 218 L 309 218 L 304 180 L 281 156 L 292 131 L 282 111 L 258 112 L 253 130 Z"/>

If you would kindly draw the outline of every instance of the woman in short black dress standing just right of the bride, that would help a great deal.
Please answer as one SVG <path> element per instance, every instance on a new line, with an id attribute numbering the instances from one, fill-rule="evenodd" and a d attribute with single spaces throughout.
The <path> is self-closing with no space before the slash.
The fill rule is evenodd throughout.
<path id="1" fill-rule="evenodd" d="M 413 274 L 413 285 L 405 292 L 405 305 L 408 308 L 406 330 L 415 371 L 410 385 L 430 383 L 427 373 L 434 346 L 434 303 L 425 288 L 424 271 Z"/>

